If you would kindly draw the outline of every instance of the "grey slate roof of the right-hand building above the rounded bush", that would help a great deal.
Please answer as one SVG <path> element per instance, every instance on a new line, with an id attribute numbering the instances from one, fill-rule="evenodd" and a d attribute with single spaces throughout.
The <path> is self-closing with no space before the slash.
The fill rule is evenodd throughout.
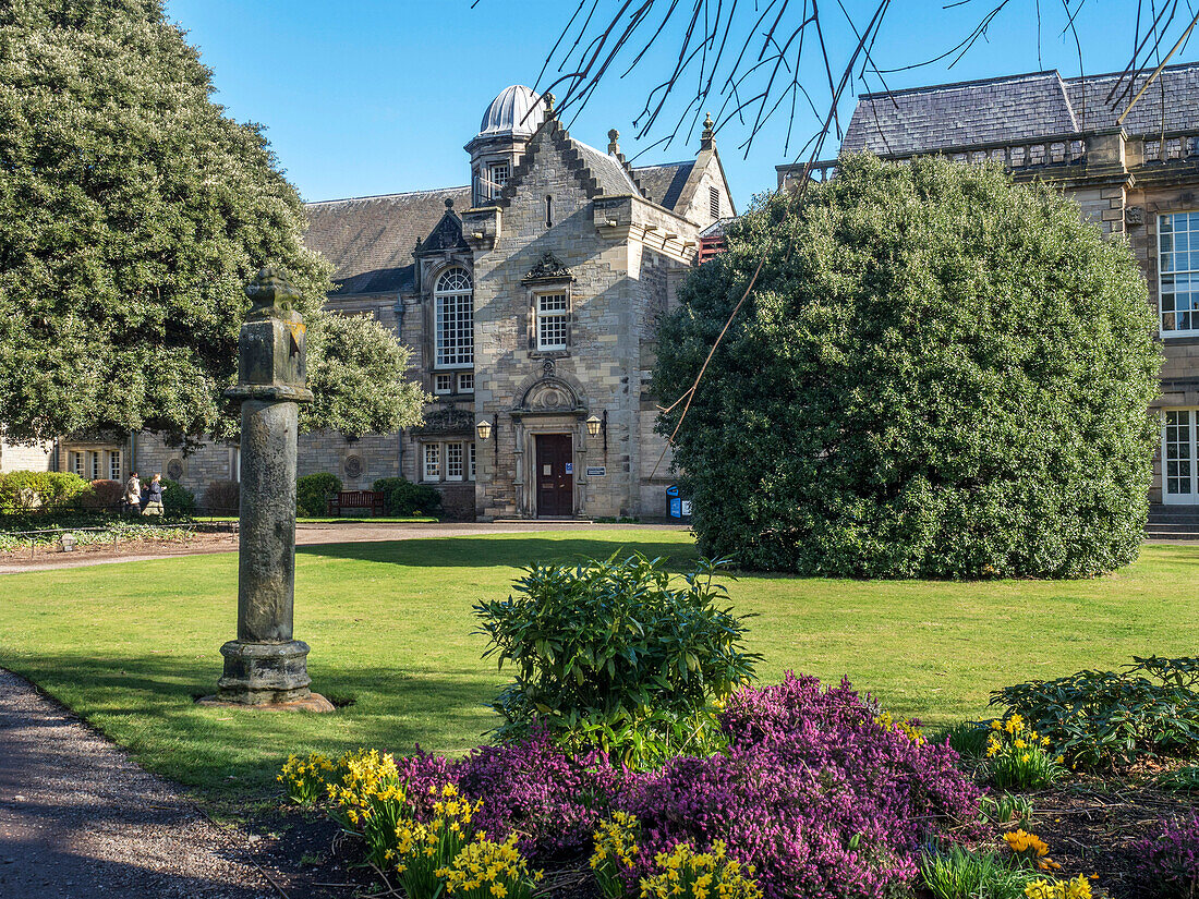
<path id="1" fill-rule="evenodd" d="M 1137 77 L 1139 90 L 1149 72 Z M 842 150 L 904 156 L 988 143 L 1113 128 L 1129 97 L 1107 102 L 1119 74 L 1062 78 L 1056 71 L 863 93 Z M 1129 134 L 1199 128 L 1199 62 L 1168 66 L 1125 120 Z"/>

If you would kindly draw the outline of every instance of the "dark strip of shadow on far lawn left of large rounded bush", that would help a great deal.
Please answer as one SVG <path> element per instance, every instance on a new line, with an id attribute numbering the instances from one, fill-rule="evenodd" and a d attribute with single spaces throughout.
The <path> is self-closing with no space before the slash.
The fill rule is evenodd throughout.
<path id="1" fill-rule="evenodd" d="M 578 565 L 589 559 L 617 557 L 640 553 L 661 557 L 667 571 L 689 568 L 697 559 L 691 543 L 658 541 L 588 539 L 496 535 L 489 537 L 442 537 L 393 541 L 387 543 L 325 543 L 296 547 L 297 555 L 329 559 L 356 559 L 414 567 L 492 567 L 522 568 L 534 562 Z"/>

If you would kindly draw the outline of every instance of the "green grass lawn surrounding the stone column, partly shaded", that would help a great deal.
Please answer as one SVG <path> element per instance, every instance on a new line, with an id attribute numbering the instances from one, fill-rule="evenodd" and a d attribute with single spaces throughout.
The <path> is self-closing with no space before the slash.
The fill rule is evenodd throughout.
<path id="1" fill-rule="evenodd" d="M 313 687 L 354 704 L 335 714 L 203 708 L 236 623 L 234 554 L 0 578 L 0 665 L 38 683 L 201 792 L 248 797 L 289 752 L 374 746 L 457 753 L 495 723 L 502 682 L 480 654 L 471 605 L 507 591 L 532 560 L 620 548 L 694 557 L 682 531 L 559 531 L 306 547 L 296 636 Z M 984 713 L 989 690 L 1133 654 L 1195 654 L 1199 547 L 1145 547 L 1141 560 L 1084 581 L 799 580 L 743 577 L 752 647 L 767 682 L 784 670 L 848 675 L 892 711 L 932 723 Z"/>

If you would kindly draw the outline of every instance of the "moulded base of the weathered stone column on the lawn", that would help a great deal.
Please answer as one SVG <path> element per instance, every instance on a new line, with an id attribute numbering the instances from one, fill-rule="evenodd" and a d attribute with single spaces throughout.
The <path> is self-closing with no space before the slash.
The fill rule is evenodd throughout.
<path id="1" fill-rule="evenodd" d="M 224 676 L 212 702 L 332 711 L 332 704 L 308 689 L 308 644 L 243 642 L 230 640 L 221 647 Z M 204 700 L 201 700 L 204 701 Z"/>

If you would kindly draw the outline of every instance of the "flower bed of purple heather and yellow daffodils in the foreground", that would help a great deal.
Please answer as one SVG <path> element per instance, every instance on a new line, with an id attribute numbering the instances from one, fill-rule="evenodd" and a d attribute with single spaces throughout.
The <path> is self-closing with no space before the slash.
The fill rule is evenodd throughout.
<path id="1" fill-rule="evenodd" d="M 596 840 L 611 834 L 604 822 L 622 814 L 617 820 L 628 822 L 635 849 L 610 856 L 604 870 L 627 897 L 656 895 L 669 871 L 682 870 L 677 865 L 689 871 L 683 895 L 692 899 L 725 876 L 727 889 L 747 897 L 884 897 L 915 880 L 922 845 L 977 827 L 980 791 L 954 767 L 956 753 L 881 716 L 848 683 L 826 689 L 788 675 L 776 687 L 743 688 L 730 698 L 721 728 L 727 750 L 677 756 L 651 771 L 616 766 L 600 753 L 572 755 L 535 730 L 460 760 L 375 759 L 368 767 L 382 765 L 386 776 L 364 796 L 351 758 L 337 765 L 295 760 L 284 779 L 297 800 L 313 794 L 313 777 L 324 779 L 345 829 L 368 843 L 364 855 L 384 876 L 403 873 L 379 864 L 393 862 L 386 853 L 397 851 L 378 843 L 378 821 L 390 827 L 396 816 L 379 807 L 380 797 L 403 806 L 399 817 L 411 823 L 398 832 L 410 834 L 445 821 L 442 795 L 453 789 L 471 809 L 475 838 L 486 833 L 529 865 L 583 868 Z M 357 820 L 345 815 L 348 795 L 357 797 L 349 807 Z M 442 859 L 440 870 L 452 869 L 453 859 Z"/>

